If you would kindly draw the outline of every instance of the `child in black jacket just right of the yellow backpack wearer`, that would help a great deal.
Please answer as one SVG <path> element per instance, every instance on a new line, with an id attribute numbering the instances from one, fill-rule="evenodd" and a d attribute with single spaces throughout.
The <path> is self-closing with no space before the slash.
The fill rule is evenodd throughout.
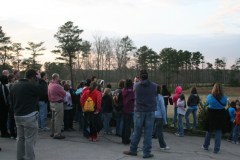
<path id="1" fill-rule="evenodd" d="M 111 90 L 109 88 L 105 88 L 102 97 L 102 116 L 103 116 L 103 128 L 106 134 L 112 134 L 112 130 L 110 127 L 112 112 L 113 112 L 113 100 L 111 96 Z"/>

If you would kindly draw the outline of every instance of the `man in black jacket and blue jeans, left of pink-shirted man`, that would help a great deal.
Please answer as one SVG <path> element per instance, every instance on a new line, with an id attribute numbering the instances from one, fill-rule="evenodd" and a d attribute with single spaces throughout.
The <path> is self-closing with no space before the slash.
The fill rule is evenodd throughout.
<path id="1" fill-rule="evenodd" d="M 44 86 L 44 90 L 46 92 L 43 96 L 39 98 L 38 106 L 39 106 L 39 118 L 38 118 L 38 127 L 41 131 L 49 131 L 50 129 L 46 126 L 47 119 L 47 102 L 48 102 L 48 85 L 47 85 L 47 74 L 45 72 L 41 72 L 41 79 L 39 83 Z"/>

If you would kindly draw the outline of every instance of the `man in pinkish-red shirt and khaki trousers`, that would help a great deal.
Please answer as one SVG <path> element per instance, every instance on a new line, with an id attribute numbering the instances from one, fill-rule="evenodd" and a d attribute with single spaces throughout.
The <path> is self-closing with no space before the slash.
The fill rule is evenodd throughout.
<path id="1" fill-rule="evenodd" d="M 48 85 L 48 100 L 50 101 L 50 108 L 53 112 L 52 126 L 53 138 L 64 139 L 65 136 L 61 134 L 63 124 L 63 100 L 66 92 L 59 84 L 59 74 L 52 75 L 52 81 Z"/>

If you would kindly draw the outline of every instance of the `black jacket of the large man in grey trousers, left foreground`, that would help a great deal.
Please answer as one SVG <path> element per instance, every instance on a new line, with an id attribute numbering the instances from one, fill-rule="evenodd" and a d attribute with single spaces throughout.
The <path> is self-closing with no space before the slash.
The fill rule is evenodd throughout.
<path id="1" fill-rule="evenodd" d="M 38 100 L 46 93 L 46 87 L 38 82 L 20 79 L 10 90 L 10 101 L 15 116 L 25 116 L 38 110 Z"/>

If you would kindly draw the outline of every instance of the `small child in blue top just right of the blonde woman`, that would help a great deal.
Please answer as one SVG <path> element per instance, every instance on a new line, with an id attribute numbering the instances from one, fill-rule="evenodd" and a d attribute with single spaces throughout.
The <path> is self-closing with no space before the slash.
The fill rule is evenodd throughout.
<path id="1" fill-rule="evenodd" d="M 230 132 L 230 135 L 228 137 L 228 141 L 231 142 L 233 139 L 233 129 L 234 129 L 234 126 L 235 126 L 235 118 L 236 118 L 236 102 L 232 101 L 230 103 L 230 106 L 228 108 L 228 114 L 230 116 L 230 129 L 231 129 L 231 132 Z"/>

